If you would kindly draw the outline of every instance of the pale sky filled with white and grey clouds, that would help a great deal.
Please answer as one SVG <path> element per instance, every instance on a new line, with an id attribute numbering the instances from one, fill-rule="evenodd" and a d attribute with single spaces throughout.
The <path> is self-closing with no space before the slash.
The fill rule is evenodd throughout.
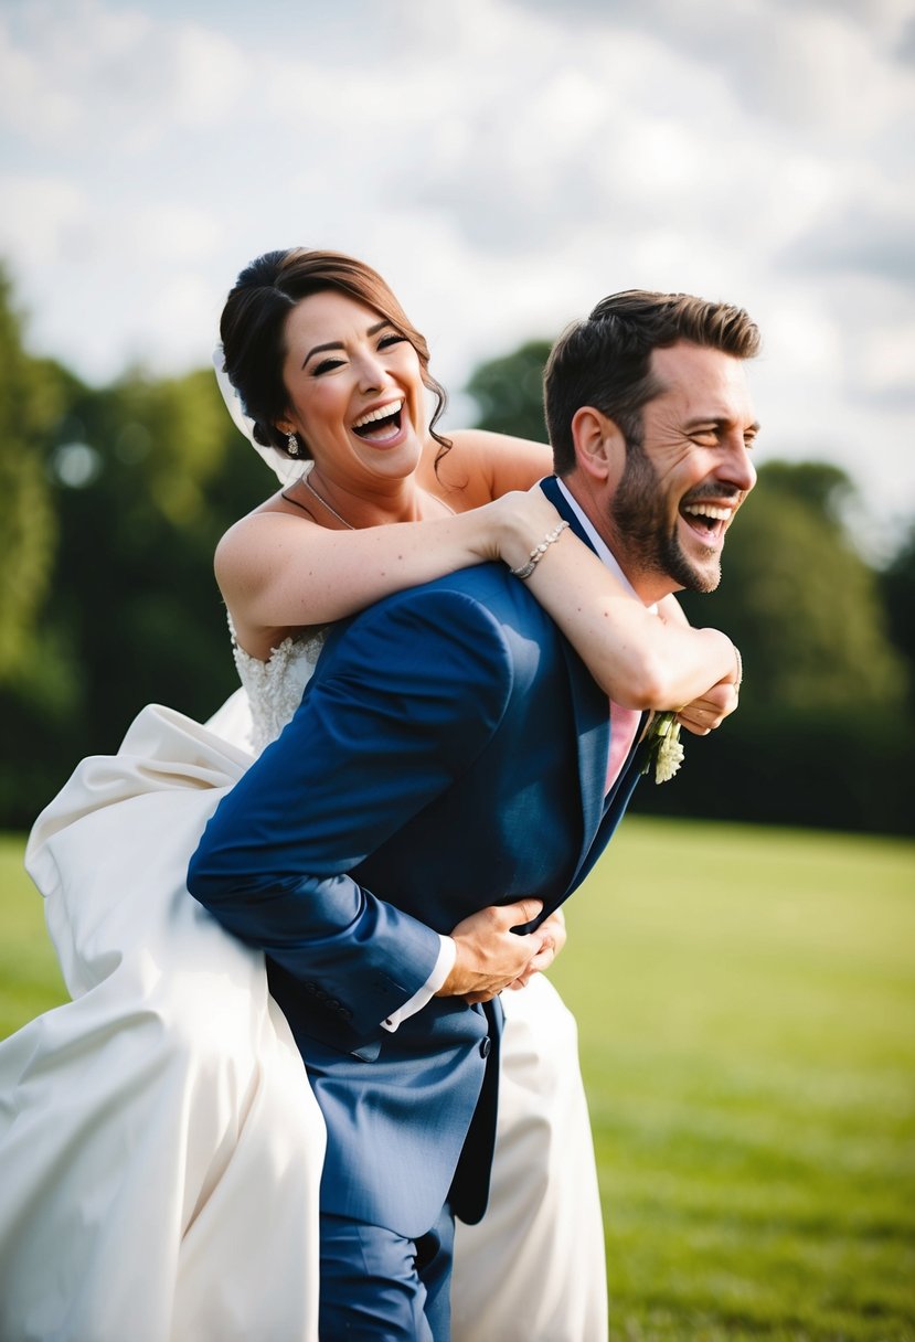
<path id="1" fill-rule="evenodd" d="M 354 252 L 452 392 L 606 293 L 746 306 L 761 460 L 915 514 L 915 0 L 0 0 L 0 256 L 91 382 Z M 864 523 L 863 523 L 864 534 Z"/>

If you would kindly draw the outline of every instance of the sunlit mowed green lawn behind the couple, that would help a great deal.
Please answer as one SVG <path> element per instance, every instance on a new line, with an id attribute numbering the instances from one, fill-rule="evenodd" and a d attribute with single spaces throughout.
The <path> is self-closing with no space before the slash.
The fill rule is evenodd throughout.
<path id="1" fill-rule="evenodd" d="M 915 843 L 632 816 L 566 910 L 614 1342 L 915 1342 Z M 0 840 L 0 1032 L 62 998 Z"/>

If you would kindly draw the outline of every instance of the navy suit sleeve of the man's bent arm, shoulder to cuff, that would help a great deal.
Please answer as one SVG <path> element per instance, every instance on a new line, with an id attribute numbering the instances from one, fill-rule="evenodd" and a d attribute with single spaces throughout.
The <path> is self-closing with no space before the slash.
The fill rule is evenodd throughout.
<path id="1" fill-rule="evenodd" d="M 492 617 L 440 588 L 366 612 L 325 658 L 279 741 L 220 803 L 188 886 L 364 1032 L 425 984 L 440 941 L 349 872 L 486 746 L 511 660 Z"/>

